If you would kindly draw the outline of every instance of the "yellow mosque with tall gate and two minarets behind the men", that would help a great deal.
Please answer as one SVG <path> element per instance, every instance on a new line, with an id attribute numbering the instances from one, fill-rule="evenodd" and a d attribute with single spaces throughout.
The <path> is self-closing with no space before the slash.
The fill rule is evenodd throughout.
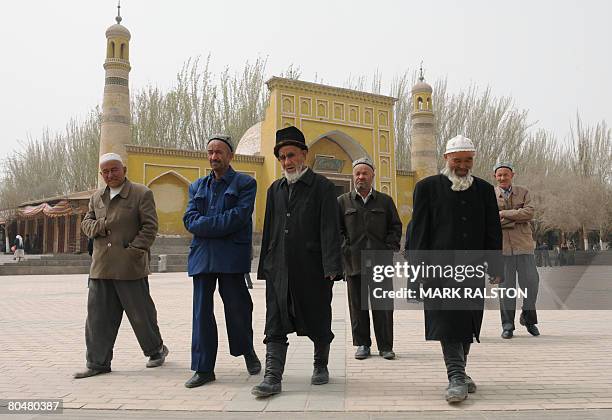
<path id="1" fill-rule="evenodd" d="M 127 161 L 128 176 L 153 191 L 159 216 L 159 232 L 188 235 L 182 216 L 188 201 L 189 184 L 210 171 L 206 151 L 178 150 L 125 144 L 130 138 L 129 31 L 117 23 L 106 31 L 106 71 L 100 154 L 113 151 Z M 420 82 L 413 89 L 413 118 L 417 163 L 415 172 L 396 168 L 395 98 L 317 83 L 273 77 L 266 82 L 269 101 L 264 120 L 244 134 L 236 147 L 232 167 L 257 181 L 253 214 L 255 231 L 263 229 L 268 186 L 281 176 L 274 157 L 275 133 L 296 126 L 309 147 L 307 164 L 325 175 L 338 195 L 353 189 L 353 160 L 369 157 L 375 162 L 375 189 L 395 200 L 404 222 L 412 209 L 412 191 L 417 175 L 427 175 L 433 150 L 431 87 Z M 414 131 L 414 130 L 413 130 Z M 429 150 L 429 152 L 428 152 Z M 413 166 L 414 167 L 414 166 Z M 419 169 L 421 168 L 421 169 Z"/>

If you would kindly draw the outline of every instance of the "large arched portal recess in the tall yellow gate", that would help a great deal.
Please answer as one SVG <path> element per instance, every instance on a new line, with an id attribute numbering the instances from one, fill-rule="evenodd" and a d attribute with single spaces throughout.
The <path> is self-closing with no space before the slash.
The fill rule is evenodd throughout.
<path id="1" fill-rule="evenodd" d="M 337 196 L 353 188 L 352 162 L 370 157 L 361 144 L 339 130 L 318 136 L 308 149 L 308 166 L 334 183 Z"/>

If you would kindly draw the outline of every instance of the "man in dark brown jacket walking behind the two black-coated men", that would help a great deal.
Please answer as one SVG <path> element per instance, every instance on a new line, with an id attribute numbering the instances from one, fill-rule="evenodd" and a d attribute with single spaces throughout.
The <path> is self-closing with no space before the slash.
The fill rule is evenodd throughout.
<path id="1" fill-rule="evenodd" d="M 385 359 L 394 359 L 393 352 L 393 300 L 377 299 L 376 288 L 393 289 L 392 279 L 379 284 L 361 271 L 362 251 L 386 251 L 392 263 L 392 252 L 399 251 L 402 237 L 402 221 L 393 199 L 372 187 L 374 163 L 369 158 L 353 162 L 355 190 L 338 197 L 340 206 L 340 232 L 344 274 L 347 280 L 349 313 L 353 345 L 357 346 L 355 359 L 370 356 L 369 301 L 372 303 L 372 320 L 378 353 Z M 382 256 L 380 256 L 382 257 Z M 386 255 L 385 255 L 386 257 Z M 383 257 L 384 258 L 384 257 Z M 363 274 L 363 275 L 362 275 Z"/>

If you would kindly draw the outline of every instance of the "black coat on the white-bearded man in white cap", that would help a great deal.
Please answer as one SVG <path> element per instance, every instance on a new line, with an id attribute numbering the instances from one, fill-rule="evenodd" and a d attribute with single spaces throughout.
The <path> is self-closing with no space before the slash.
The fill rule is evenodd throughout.
<path id="1" fill-rule="evenodd" d="M 493 186 L 474 177 L 472 186 L 465 191 L 453 191 L 450 187 L 451 182 L 444 175 L 430 176 L 416 184 L 406 248 L 410 251 L 501 251 L 502 230 Z M 501 252 L 481 259 L 486 259 L 489 275 L 502 275 Z M 424 287 L 446 287 L 452 282 L 430 279 Z M 481 278 L 468 286 L 484 289 L 485 281 Z M 439 300 L 425 299 L 425 338 L 471 342 L 475 337 L 479 340 L 484 300 L 465 303 L 470 310 L 448 310 L 439 309 Z"/>

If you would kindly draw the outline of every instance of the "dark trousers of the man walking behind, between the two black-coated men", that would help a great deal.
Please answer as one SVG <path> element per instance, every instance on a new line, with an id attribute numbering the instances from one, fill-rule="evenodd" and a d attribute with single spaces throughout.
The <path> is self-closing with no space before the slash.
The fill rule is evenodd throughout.
<path id="1" fill-rule="evenodd" d="M 387 285 L 388 286 L 388 285 Z M 347 281 L 349 313 L 354 346 L 372 346 L 370 337 L 369 296 L 373 287 L 382 287 L 382 283 L 364 284 L 361 275 L 349 276 Z M 391 286 L 392 287 L 392 286 Z M 383 287 L 387 290 L 388 287 Z M 384 302 L 384 306 L 392 308 L 392 301 Z M 393 309 L 372 309 L 374 335 L 379 351 L 393 349 Z"/>

